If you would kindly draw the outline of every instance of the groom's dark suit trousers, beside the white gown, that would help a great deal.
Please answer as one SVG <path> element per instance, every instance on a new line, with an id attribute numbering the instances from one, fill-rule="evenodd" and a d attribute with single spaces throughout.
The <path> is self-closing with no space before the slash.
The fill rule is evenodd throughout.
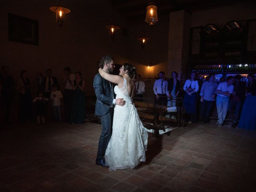
<path id="1" fill-rule="evenodd" d="M 112 135 L 113 116 L 114 108 L 109 108 L 108 112 L 105 115 L 100 116 L 102 132 L 99 139 L 96 160 L 102 160 L 105 156 L 106 148 Z"/>

